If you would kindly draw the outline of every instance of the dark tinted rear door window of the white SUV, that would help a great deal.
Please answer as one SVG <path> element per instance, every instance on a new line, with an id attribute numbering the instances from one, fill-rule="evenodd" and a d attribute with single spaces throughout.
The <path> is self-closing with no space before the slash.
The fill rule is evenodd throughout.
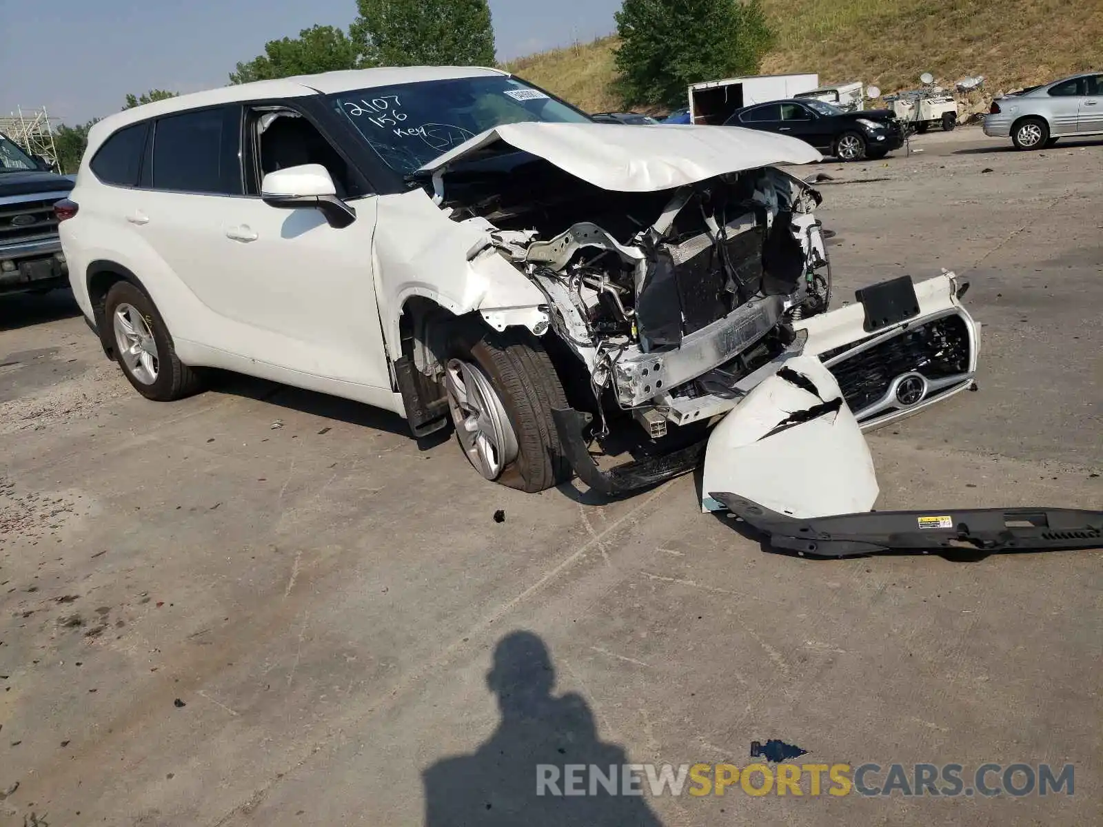
<path id="1" fill-rule="evenodd" d="M 154 190 L 242 194 L 240 107 L 199 109 L 157 121 Z"/>

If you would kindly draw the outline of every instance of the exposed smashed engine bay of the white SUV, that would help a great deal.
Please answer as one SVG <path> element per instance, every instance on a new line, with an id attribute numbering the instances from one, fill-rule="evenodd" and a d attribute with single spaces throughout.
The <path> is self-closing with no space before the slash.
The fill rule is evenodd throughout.
<path id="1" fill-rule="evenodd" d="M 450 171 L 437 202 L 484 226 L 544 292 L 602 422 L 619 409 L 650 437 L 700 418 L 681 410 L 694 399 L 732 407 L 739 382 L 829 300 L 821 197 L 772 167 L 625 193 L 525 153 L 491 154 Z"/>

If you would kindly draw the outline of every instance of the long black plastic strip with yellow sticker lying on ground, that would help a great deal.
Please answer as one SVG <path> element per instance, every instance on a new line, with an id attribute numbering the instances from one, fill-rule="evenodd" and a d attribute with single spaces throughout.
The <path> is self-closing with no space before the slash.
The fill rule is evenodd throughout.
<path id="1" fill-rule="evenodd" d="M 797 519 L 738 494 L 710 493 L 770 545 L 807 557 L 882 551 L 1058 551 L 1103 548 L 1103 512 L 1074 508 L 943 508 Z"/>

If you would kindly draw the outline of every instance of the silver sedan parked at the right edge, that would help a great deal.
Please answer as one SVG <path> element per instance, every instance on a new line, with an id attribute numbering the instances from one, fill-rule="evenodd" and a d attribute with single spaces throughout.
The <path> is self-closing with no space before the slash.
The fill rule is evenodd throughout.
<path id="1" fill-rule="evenodd" d="M 1103 73 L 1073 75 L 996 98 L 984 118 L 984 133 L 1010 138 L 1016 149 L 1103 135 Z"/>

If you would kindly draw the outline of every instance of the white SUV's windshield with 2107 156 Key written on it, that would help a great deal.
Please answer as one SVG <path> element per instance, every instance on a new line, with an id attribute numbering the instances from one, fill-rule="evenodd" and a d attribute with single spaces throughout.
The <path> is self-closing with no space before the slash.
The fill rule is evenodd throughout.
<path id="1" fill-rule="evenodd" d="M 383 161 L 410 173 L 480 132 L 520 121 L 589 123 L 539 89 L 505 75 L 377 86 L 330 96 Z"/>

